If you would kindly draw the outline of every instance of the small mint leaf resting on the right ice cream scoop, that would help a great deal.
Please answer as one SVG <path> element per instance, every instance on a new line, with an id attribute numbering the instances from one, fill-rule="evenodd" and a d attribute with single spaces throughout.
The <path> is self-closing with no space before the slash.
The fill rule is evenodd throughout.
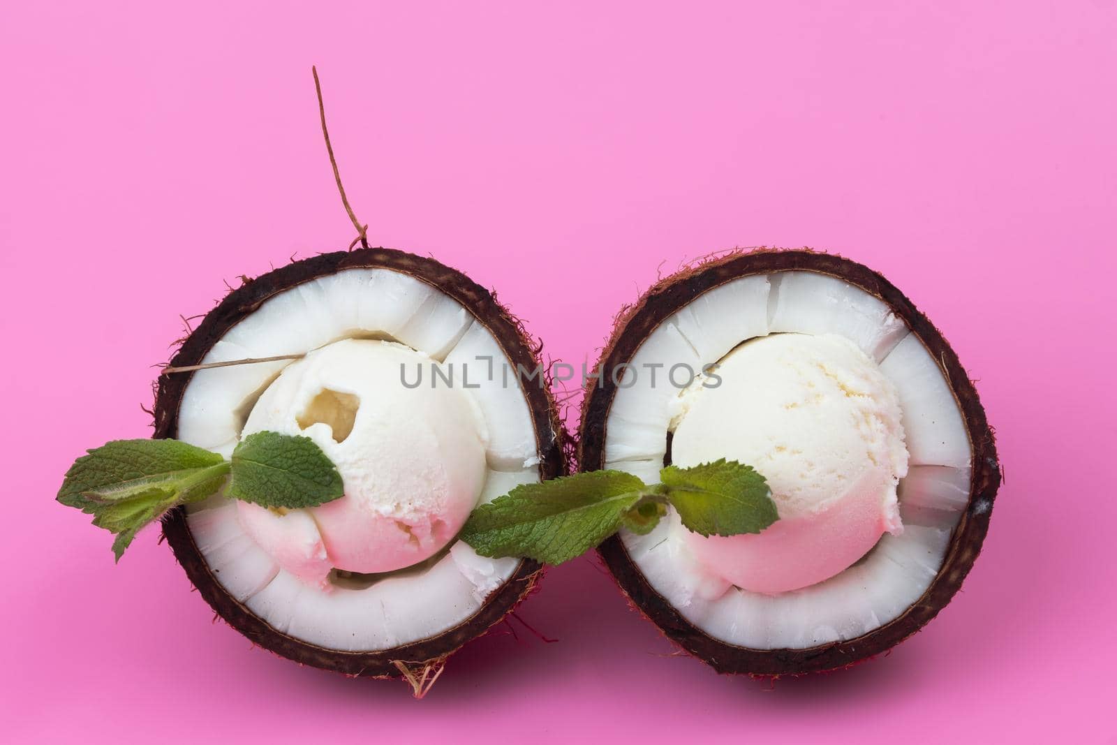
<path id="1" fill-rule="evenodd" d="M 760 533 L 780 518 L 767 481 L 751 466 L 722 458 L 691 468 L 668 466 L 659 478 L 682 525 L 699 535 Z"/>

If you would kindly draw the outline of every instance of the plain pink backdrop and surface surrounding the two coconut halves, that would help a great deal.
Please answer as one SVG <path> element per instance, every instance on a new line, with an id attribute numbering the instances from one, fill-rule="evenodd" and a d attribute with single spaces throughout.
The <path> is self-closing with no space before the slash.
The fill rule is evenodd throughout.
<path id="1" fill-rule="evenodd" d="M 0 11 L 11 739 L 1117 742 L 1113 0 L 154 4 Z M 373 242 L 497 288 L 574 364 L 716 249 L 884 271 L 978 381 L 1008 476 L 954 603 L 772 688 L 670 656 L 583 557 L 522 606 L 557 643 L 493 633 L 416 701 L 250 649 L 154 531 L 114 567 L 52 500 L 66 467 L 147 434 L 179 314 L 352 238 L 312 63 Z"/>

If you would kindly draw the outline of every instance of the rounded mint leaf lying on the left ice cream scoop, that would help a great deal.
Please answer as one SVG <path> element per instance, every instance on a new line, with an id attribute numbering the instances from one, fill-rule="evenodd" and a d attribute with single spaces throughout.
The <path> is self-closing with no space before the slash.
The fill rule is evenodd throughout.
<path id="1" fill-rule="evenodd" d="M 256 432 L 232 451 L 230 497 L 262 507 L 315 507 L 345 494 L 341 474 L 302 434 Z"/>

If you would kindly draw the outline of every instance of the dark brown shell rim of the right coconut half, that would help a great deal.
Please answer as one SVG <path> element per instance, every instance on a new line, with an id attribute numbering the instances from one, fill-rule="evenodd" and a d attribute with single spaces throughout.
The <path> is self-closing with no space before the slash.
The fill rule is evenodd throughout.
<path id="1" fill-rule="evenodd" d="M 636 566 L 619 535 L 598 547 L 621 591 L 675 643 L 718 672 L 754 676 L 799 675 L 849 667 L 885 652 L 926 625 L 949 603 L 981 553 L 989 531 L 1001 467 L 993 430 L 977 391 L 943 334 L 910 299 L 879 273 L 850 259 L 812 249 L 757 248 L 735 250 L 660 279 L 640 299 L 622 308 L 595 370 L 630 362 L 640 344 L 661 323 L 701 294 L 739 277 L 780 271 L 813 271 L 850 283 L 881 299 L 900 316 L 932 356 L 962 410 L 970 437 L 970 502 L 955 527 L 938 573 L 923 595 L 899 617 L 847 641 L 802 649 L 752 649 L 707 634 L 682 617 Z M 579 470 L 604 467 L 605 422 L 617 385 L 609 375 L 586 381 L 577 446 Z"/>

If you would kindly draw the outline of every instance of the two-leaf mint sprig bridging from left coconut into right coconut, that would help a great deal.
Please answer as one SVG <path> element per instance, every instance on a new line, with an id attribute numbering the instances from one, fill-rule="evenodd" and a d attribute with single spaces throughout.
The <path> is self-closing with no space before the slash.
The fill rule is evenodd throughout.
<path id="1" fill-rule="evenodd" d="M 724 458 L 693 468 L 668 466 L 649 486 L 599 470 L 517 486 L 470 514 L 460 538 L 483 556 L 526 556 L 561 564 L 595 547 L 622 525 L 650 533 L 671 506 L 700 535 L 760 533 L 779 519 L 772 491 L 752 467 Z"/>

